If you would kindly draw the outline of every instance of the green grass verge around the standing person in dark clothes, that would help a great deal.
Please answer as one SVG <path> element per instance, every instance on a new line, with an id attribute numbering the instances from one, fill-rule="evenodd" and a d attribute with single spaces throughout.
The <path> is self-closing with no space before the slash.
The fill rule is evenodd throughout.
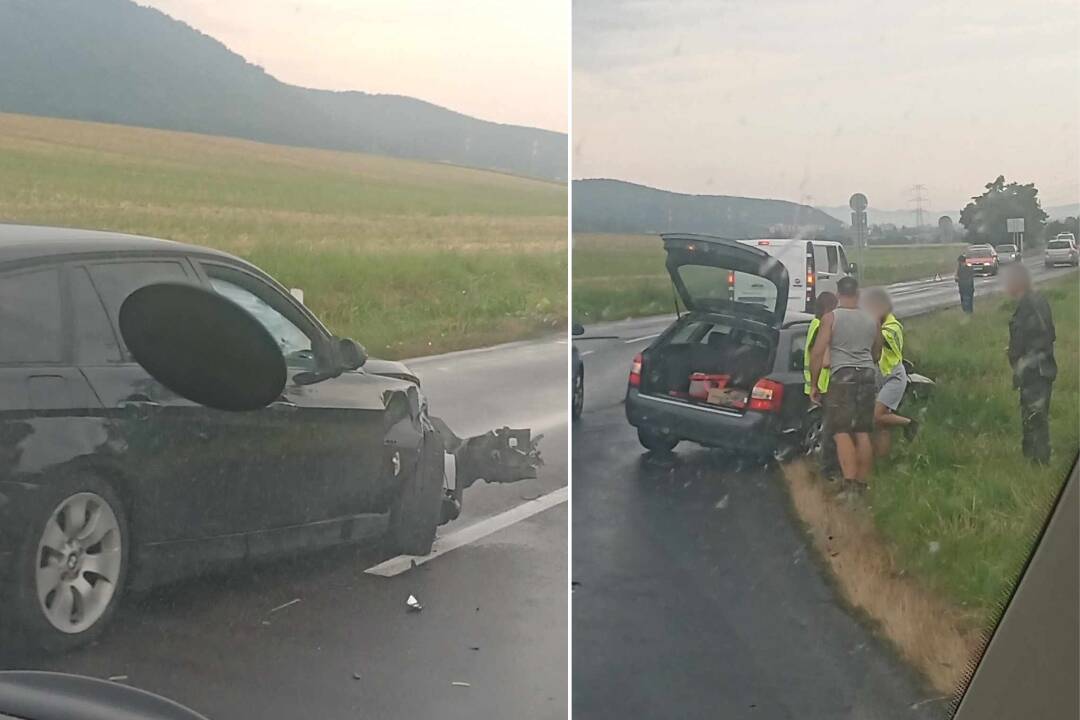
<path id="1" fill-rule="evenodd" d="M 1004 348 L 1014 303 L 983 300 L 905 323 L 907 355 L 937 382 L 926 423 L 873 478 L 875 521 L 901 566 L 988 622 L 1011 592 L 1080 444 L 1080 284 L 1041 288 L 1057 327 L 1053 462 L 1021 456 L 1020 408 Z M 905 408 L 914 409 L 914 408 Z"/>

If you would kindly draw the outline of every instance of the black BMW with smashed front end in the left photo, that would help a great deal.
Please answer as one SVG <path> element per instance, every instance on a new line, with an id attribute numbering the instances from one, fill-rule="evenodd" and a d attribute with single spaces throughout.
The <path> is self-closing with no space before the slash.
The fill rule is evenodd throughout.
<path id="1" fill-rule="evenodd" d="M 176 282 L 216 290 L 269 330 L 293 378 L 276 402 L 214 410 L 134 362 L 121 303 Z M 530 475 L 494 437 L 455 437 L 404 365 L 335 338 L 251 263 L 0 225 L 0 625 L 35 644 L 85 642 L 125 586 L 222 562 L 376 536 L 426 554 L 474 479 Z"/>

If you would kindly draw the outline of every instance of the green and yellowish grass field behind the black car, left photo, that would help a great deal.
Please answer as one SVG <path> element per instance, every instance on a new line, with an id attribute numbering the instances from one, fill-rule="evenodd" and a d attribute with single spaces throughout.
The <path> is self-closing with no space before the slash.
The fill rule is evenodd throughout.
<path id="1" fill-rule="evenodd" d="M 0 221 L 237 254 L 384 357 L 566 320 L 566 186 L 498 173 L 0 113 Z"/>

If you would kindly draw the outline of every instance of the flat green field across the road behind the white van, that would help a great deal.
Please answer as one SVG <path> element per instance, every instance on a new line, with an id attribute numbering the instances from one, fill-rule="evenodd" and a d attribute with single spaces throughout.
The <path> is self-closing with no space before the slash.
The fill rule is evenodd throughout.
<path id="1" fill-rule="evenodd" d="M 872 247 L 863 262 L 870 285 L 953 272 L 958 245 Z M 850 258 L 856 261 L 852 255 Z M 672 286 L 656 235 L 573 236 L 573 316 L 581 322 L 671 312 Z"/>

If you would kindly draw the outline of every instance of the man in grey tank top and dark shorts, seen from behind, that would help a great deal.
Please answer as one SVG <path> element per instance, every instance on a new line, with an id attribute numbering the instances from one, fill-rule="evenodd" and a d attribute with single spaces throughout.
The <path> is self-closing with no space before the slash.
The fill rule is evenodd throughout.
<path id="1" fill-rule="evenodd" d="M 837 308 L 821 320 L 810 362 L 811 399 L 821 402 L 818 377 L 831 368 L 825 423 L 836 439 L 845 490 L 864 490 L 874 465 L 874 402 L 877 396 L 881 328 L 859 308 L 859 281 L 837 283 Z"/>

